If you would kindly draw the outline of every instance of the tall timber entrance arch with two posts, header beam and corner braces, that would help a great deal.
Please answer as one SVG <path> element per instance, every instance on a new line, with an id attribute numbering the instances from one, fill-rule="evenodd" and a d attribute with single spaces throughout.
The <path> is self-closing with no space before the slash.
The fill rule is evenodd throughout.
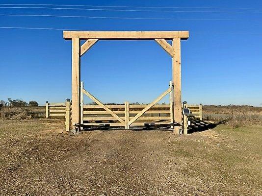
<path id="1" fill-rule="evenodd" d="M 155 40 L 172 57 L 174 121 L 182 124 L 181 101 L 181 40 L 187 40 L 188 31 L 63 31 L 65 40 L 72 40 L 72 120 L 80 124 L 80 57 L 98 40 Z M 86 40 L 80 45 L 80 40 Z M 172 40 L 172 46 L 166 41 Z M 174 127 L 179 134 L 180 126 Z"/>

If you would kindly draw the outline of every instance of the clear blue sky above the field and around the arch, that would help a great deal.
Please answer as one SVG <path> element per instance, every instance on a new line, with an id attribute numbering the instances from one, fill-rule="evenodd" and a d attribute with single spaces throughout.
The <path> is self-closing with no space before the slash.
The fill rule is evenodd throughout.
<path id="1" fill-rule="evenodd" d="M 0 3 L 30 4 L 36 1 L 1 0 Z M 0 16 L 0 27 L 188 30 L 189 39 L 182 41 L 181 44 L 182 99 L 192 104 L 262 105 L 261 0 L 37 1 L 37 4 L 41 3 L 216 7 L 212 9 L 85 7 L 183 12 L 0 8 L 0 15 L 38 14 L 183 19 Z M 0 7 L 6 6 L 0 5 Z M 14 7 L 15 5 L 9 6 Z M 230 9 L 220 9 L 223 7 Z M 66 98 L 71 98 L 71 42 L 63 39 L 62 30 L 0 28 L 0 46 L 0 99 L 22 98 L 26 101 L 36 100 L 44 104 L 46 100 L 62 102 Z M 168 88 L 171 79 L 171 63 L 171 57 L 154 41 L 99 41 L 81 58 L 81 80 L 84 81 L 85 89 L 103 102 L 151 102 Z M 86 101 L 88 102 L 88 99 Z M 168 98 L 163 101 L 168 102 Z"/>

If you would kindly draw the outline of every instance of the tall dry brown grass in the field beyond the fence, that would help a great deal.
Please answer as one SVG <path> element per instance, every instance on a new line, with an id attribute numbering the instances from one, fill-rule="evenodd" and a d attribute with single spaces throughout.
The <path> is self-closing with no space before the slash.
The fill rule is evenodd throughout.
<path id="1" fill-rule="evenodd" d="M 43 117 L 45 117 L 45 106 L 0 108 L 0 119 L 31 119 Z M 203 119 L 207 121 L 225 122 L 229 124 L 232 129 L 245 125 L 260 125 L 262 124 L 262 107 L 204 105 Z"/>

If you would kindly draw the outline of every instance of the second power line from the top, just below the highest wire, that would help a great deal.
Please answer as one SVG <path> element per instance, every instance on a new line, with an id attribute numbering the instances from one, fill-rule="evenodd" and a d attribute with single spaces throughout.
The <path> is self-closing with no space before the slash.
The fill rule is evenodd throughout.
<path id="1" fill-rule="evenodd" d="M 1 9 L 56 9 L 56 10 L 89 10 L 89 11 L 121 11 L 121 12 L 176 12 L 176 13 L 255 13 L 239 11 L 192 11 L 192 10 L 130 10 L 130 9 L 94 9 L 94 8 L 67 8 L 67 7 L 0 7 Z"/>

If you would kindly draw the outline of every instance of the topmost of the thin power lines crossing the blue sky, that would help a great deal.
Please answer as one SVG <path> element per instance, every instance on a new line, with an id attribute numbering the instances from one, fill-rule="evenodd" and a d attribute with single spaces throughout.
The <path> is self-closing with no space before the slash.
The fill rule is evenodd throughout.
<path id="1" fill-rule="evenodd" d="M 24 5 L 24 6 L 71 6 L 71 7 L 119 7 L 119 8 L 170 8 L 170 9 L 242 9 L 242 10 L 261 10 L 257 8 L 242 7 L 161 7 L 161 6 L 108 6 L 108 5 L 68 5 L 68 4 L 10 4 L 0 3 L 0 5 Z"/>

